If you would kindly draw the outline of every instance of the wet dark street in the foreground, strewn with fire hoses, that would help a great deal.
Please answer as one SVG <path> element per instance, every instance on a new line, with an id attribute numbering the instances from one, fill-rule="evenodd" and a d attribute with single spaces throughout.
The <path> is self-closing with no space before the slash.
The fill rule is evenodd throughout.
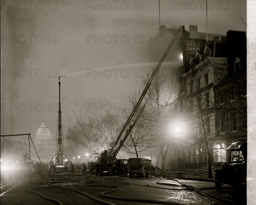
<path id="1" fill-rule="evenodd" d="M 32 181 L 1 181 L 1 205 L 229 205 L 246 204 L 246 197 L 213 182 L 163 177 L 55 174 Z"/>

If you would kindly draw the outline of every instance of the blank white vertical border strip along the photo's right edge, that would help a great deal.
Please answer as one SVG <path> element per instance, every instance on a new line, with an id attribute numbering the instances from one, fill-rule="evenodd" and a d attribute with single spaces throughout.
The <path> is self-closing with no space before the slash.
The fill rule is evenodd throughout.
<path id="1" fill-rule="evenodd" d="M 256 1 L 247 0 L 247 205 L 256 205 Z"/>

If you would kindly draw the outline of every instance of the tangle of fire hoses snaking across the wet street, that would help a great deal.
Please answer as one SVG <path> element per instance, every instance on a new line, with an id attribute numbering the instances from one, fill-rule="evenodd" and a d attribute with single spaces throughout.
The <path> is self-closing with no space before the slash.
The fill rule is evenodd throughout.
<path id="1" fill-rule="evenodd" d="M 201 190 L 194 188 L 189 185 L 184 185 L 178 182 L 176 179 L 173 179 L 174 181 L 178 182 L 180 185 L 175 185 L 176 188 L 168 188 L 168 187 L 157 187 L 157 186 L 152 186 L 152 185 L 140 185 L 136 183 L 131 183 L 128 182 L 127 178 L 123 177 L 95 177 L 92 175 L 82 175 L 82 174 L 75 174 L 75 175 L 50 175 L 49 178 L 48 176 L 38 176 L 38 180 L 43 180 L 41 182 L 37 182 L 38 184 L 42 185 L 48 185 L 47 187 L 42 187 L 42 188 L 35 188 L 35 189 L 29 189 L 28 193 L 35 193 L 41 196 L 42 198 L 52 201 L 56 204 L 63 205 L 63 203 L 55 198 L 46 196 L 43 191 L 45 190 L 52 190 L 52 189 L 62 189 L 62 190 L 69 190 L 73 191 L 76 193 L 79 193 L 83 196 L 86 196 L 87 198 L 99 202 L 101 204 L 105 205 L 116 205 L 116 203 L 113 202 L 108 202 L 103 199 L 99 199 L 96 196 L 93 196 L 92 194 L 86 193 L 88 190 L 91 188 L 96 188 L 96 187 L 102 187 L 102 188 L 110 188 L 107 191 L 102 191 L 99 193 L 100 196 L 108 199 L 117 199 L 117 200 L 122 200 L 122 201 L 127 201 L 127 202 L 141 202 L 141 203 L 154 203 L 154 204 L 171 204 L 171 205 L 183 205 L 186 203 L 182 202 L 175 202 L 175 201 L 162 201 L 162 200 L 152 200 L 152 199 L 141 199 L 141 198 L 127 198 L 127 197 L 121 197 L 121 196 L 113 196 L 110 195 L 110 193 L 114 193 L 116 191 L 120 190 L 120 186 L 127 186 L 127 185 L 135 185 L 135 186 L 144 186 L 148 188 L 157 188 L 157 189 L 164 189 L 164 190 L 171 190 L 171 191 L 195 191 L 196 193 L 200 194 L 201 196 L 204 196 L 205 199 L 208 199 L 209 204 L 212 204 L 215 202 L 213 199 L 214 197 L 209 196 L 209 194 L 205 194 L 201 192 Z M 68 185 L 67 185 L 68 184 Z M 173 187 L 173 186 L 172 186 Z M 79 189 L 84 188 L 87 190 L 86 192 L 81 191 Z M 89 188 L 89 189 L 88 189 Z M 153 196 L 153 195 L 152 195 Z M 24 199 L 22 200 L 22 204 L 26 204 L 26 197 L 28 197 L 28 194 L 24 196 Z M 219 200 L 219 199 L 218 199 Z"/>

